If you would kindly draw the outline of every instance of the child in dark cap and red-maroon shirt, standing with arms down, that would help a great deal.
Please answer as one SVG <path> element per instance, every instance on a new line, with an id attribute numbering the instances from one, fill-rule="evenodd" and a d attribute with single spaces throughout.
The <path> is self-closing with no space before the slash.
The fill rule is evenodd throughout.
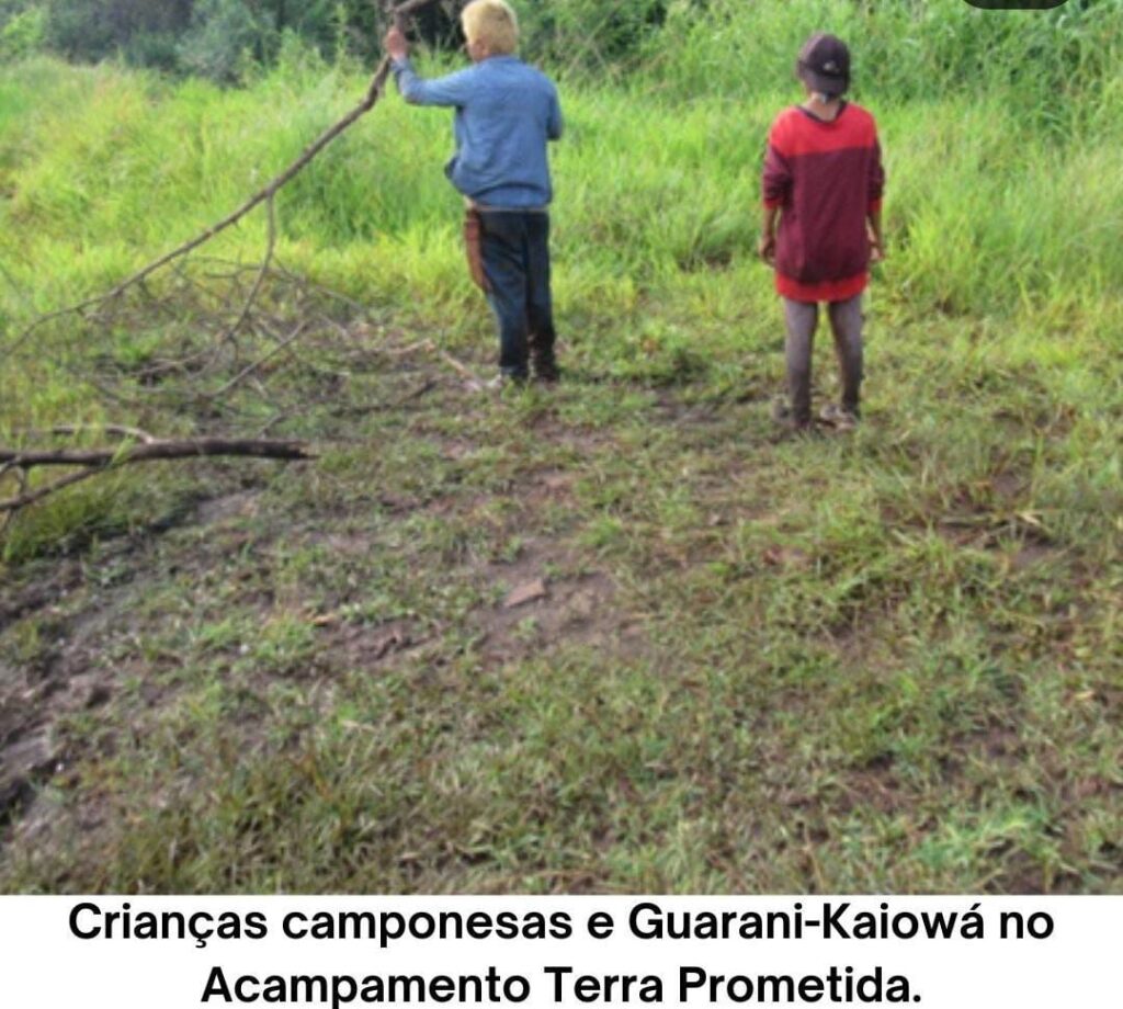
<path id="1" fill-rule="evenodd" d="M 885 173 L 874 117 L 842 100 L 850 85 L 846 44 L 813 35 L 800 52 L 796 75 L 807 97 L 780 112 L 768 134 L 758 246 L 776 269 L 787 324 L 791 402 L 779 413 L 797 429 L 811 426 L 811 352 L 819 302 L 825 301 L 842 401 L 822 418 L 852 427 L 860 409 L 861 292 L 870 262 L 883 257 Z"/>

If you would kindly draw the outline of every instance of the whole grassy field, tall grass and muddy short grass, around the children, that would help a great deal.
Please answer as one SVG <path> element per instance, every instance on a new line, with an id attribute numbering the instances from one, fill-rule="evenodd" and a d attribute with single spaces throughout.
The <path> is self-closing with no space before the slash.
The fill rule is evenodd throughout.
<path id="1" fill-rule="evenodd" d="M 396 97 L 283 191 L 272 330 L 214 371 L 152 380 L 236 310 L 261 216 L 19 339 L 237 206 L 364 76 L 0 70 L 0 444 L 319 453 L 127 467 L 8 526 L 0 888 L 1123 890 L 1120 19 L 785 7 L 564 82 L 566 380 L 501 396 L 418 347 L 495 353 L 448 117 Z M 827 16 L 867 45 L 889 249 L 862 426 L 789 439 L 757 180 Z"/>

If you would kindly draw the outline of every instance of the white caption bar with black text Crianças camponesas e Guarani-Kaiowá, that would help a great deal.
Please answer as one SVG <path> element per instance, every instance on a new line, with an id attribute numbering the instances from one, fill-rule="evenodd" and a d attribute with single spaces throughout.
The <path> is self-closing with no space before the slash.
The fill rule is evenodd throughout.
<path id="1" fill-rule="evenodd" d="M 0 898 L 2 1003 L 1123 1007 L 1123 897 Z"/>

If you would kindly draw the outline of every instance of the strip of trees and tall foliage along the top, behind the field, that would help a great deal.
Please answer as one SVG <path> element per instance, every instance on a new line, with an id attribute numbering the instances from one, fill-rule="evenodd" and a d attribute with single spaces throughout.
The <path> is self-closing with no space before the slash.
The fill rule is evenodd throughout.
<path id="1" fill-rule="evenodd" d="M 422 11 L 430 46 L 460 43 L 465 0 Z M 1068 91 L 1096 80 L 1117 51 L 1123 0 L 1053 10 L 979 11 L 962 0 L 511 0 L 522 52 L 575 73 L 651 66 L 696 91 L 785 72 L 800 40 L 830 29 L 860 40 L 864 82 L 910 93 L 996 74 Z M 0 58 L 47 48 L 69 60 L 119 57 L 223 83 L 272 65 L 285 39 L 327 58 L 371 62 L 385 28 L 377 0 L 0 0 Z M 749 61 L 747 63 L 747 60 Z"/>

